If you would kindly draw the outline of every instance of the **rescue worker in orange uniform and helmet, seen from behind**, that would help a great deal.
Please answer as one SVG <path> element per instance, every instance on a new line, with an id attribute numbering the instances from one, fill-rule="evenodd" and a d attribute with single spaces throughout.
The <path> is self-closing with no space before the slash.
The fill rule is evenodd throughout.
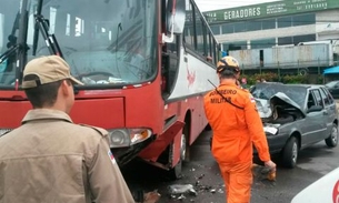
<path id="1" fill-rule="evenodd" d="M 249 203 L 252 184 L 252 144 L 265 165 L 271 161 L 261 119 L 252 95 L 241 89 L 238 61 L 222 58 L 217 64 L 220 85 L 205 97 L 205 112 L 212 129 L 212 154 L 226 185 L 227 203 Z"/>

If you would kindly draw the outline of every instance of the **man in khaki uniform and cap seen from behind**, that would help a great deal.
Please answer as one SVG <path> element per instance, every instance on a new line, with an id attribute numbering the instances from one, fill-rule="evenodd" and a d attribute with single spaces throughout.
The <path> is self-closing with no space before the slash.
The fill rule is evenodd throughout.
<path id="1" fill-rule="evenodd" d="M 70 75 L 60 57 L 30 61 L 22 125 L 0 138 L 0 203 L 132 203 L 103 129 L 72 123 Z"/>

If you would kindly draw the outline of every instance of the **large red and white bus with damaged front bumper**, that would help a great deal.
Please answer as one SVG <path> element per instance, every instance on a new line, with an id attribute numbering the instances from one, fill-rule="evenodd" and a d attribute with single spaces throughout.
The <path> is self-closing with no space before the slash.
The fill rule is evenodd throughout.
<path id="1" fill-rule="evenodd" d="M 120 165 L 134 158 L 180 175 L 207 125 L 217 43 L 193 0 L 0 0 L 0 134 L 31 108 L 27 61 L 59 54 L 74 87 L 74 123 L 109 131 Z M 41 67 L 43 68 L 43 67 Z"/>

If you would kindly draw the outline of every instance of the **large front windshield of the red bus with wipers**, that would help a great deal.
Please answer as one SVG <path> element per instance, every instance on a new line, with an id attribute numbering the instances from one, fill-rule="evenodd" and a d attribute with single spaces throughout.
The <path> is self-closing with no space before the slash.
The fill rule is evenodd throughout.
<path id="1" fill-rule="evenodd" d="M 76 78 L 99 88 L 141 83 L 154 77 L 157 1 L 2 1 L 0 54 L 17 43 L 10 39 L 19 35 L 16 17 L 22 2 L 27 4 L 28 23 L 20 29 L 27 29 L 28 61 L 39 55 L 61 54 Z M 14 65 L 16 54 L 1 63 L 0 87 L 13 84 Z"/>

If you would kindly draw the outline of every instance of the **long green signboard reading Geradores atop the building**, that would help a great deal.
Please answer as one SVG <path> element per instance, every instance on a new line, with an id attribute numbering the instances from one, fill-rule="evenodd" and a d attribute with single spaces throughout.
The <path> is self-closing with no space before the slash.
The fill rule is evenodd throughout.
<path id="1" fill-rule="evenodd" d="M 240 21 L 339 8 L 339 0 L 285 0 L 203 12 L 208 22 Z"/>

